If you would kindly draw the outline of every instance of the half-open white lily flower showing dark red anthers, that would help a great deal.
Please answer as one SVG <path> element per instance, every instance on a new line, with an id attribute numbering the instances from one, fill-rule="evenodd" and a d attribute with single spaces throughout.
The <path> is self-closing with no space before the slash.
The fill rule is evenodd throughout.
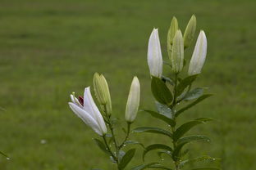
<path id="1" fill-rule="evenodd" d="M 107 133 L 107 127 L 103 120 L 103 116 L 100 114 L 97 105 L 94 103 L 94 99 L 91 95 L 89 87 L 85 88 L 84 98 L 79 97 L 77 99 L 75 94 L 71 94 L 71 101 L 68 105 L 71 110 L 82 119 L 86 125 L 98 133 L 99 136 L 103 136 Z"/>

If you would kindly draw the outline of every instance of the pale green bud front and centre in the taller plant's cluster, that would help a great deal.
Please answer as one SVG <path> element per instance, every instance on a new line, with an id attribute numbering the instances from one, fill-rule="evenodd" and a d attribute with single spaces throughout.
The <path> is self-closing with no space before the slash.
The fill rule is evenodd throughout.
<path id="1" fill-rule="evenodd" d="M 184 43 L 181 30 L 177 30 L 172 41 L 171 48 L 171 69 L 173 72 L 180 73 L 184 63 Z"/>

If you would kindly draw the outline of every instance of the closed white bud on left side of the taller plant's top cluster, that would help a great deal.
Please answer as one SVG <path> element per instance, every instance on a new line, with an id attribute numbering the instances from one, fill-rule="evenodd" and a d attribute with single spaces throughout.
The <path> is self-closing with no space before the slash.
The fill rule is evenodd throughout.
<path id="1" fill-rule="evenodd" d="M 161 78 L 162 76 L 162 52 L 158 36 L 158 29 L 153 29 L 149 38 L 148 65 L 150 74 Z"/>

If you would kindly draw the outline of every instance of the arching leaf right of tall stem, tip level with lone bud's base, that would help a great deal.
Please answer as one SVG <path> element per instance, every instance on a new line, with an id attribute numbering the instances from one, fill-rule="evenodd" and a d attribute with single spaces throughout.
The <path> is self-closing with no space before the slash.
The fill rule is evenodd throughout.
<path id="1" fill-rule="evenodd" d="M 186 132 L 188 132 L 190 130 L 190 128 L 193 128 L 194 126 L 196 126 L 198 124 L 205 123 L 205 122 L 211 121 L 211 120 L 213 120 L 213 119 L 210 119 L 210 118 L 199 118 L 199 119 L 195 119 L 195 120 L 192 120 L 190 122 L 182 124 L 173 133 L 173 140 L 174 141 L 178 141 L 178 139 L 180 139 L 181 136 L 183 136 Z"/>

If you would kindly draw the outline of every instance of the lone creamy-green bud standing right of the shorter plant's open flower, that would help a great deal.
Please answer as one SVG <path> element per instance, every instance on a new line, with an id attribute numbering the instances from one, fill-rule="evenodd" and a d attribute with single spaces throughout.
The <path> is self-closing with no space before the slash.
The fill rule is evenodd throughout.
<path id="1" fill-rule="evenodd" d="M 130 85 L 130 92 L 126 103 L 126 122 L 133 123 L 135 121 L 140 99 L 139 79 L 135 76 Z"/>

